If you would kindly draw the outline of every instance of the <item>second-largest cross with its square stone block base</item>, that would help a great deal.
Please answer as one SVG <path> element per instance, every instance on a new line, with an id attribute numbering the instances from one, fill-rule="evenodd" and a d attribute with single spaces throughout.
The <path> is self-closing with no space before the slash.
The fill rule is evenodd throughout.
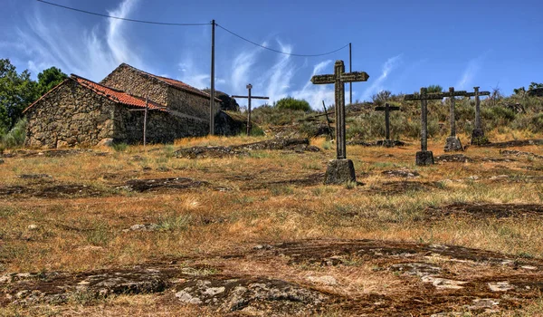
<path id="1" fill-rule="evenodd" d="M 465 92 L 465 91 L 464 91 Z M 405 95 L 404 101 L 421 101 L 421 150 L 416 152 L 416 165 L 433 164 L 433 153 L 428 150 L 428 110 L 426 101 L 441 100 L 449 97 L 451 92 L 428 93 L 426 88 L 421 88 L 420 93 Z"/>

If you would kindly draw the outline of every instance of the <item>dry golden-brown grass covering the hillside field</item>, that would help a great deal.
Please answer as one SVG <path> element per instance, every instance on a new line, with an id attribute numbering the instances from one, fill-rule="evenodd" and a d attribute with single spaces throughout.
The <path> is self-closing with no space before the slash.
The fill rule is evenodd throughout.
<path id="1" fill-rule="evenodd" d="M 515 131 L 492 134 L 496 140 L 524 137 L 529 136 Z M 466 139 L 463 136 L 462 140 Z M 454 203 L 543 204 L 543 185 L 527 178 L 543 172 L 524 168 L 543 167 L 542 159 L 519 157 L 514 158 L 518 159 L 516 162 L 445 163 L 420 168 L 414 166 L 416 142 L 402 149 L 353 146 L 348 147 L 348 157 L 355 163 L 357 180 L 364 185 L 302 186 L 289 184 L 289 180 L 324 172 L 327 161 L 334 157 L 333 144 L 330 146 L 324 139 L 312 140 L 314 145 L 324 148 L 320 153 L 256 151 L 248 157 L 225 159 L 176 159 L 172 155 L 179 147 L 257 140 L 261 139 L 183 139 L 173 147 L 129 147 L 122 152 L 103 149 L 108 152 L 104 157 L 84 153 L 59 158 L 5 159 L 0 169 L 0 187 L 43 186 L 39 181 L 18 176 L 48 174 L 55 184 L 96 187 L 103 195 L 0 197 L 0 272 L 80 272 L 187 255 L 206 257 L 255 244 L 304 238 L 415 241 L 543 257 L 540 217 L 448 216 L 432 221 L 424 218 L 428 208 Z M 434 156 L 443 154 L 443 144 L 444 139 L 430 144 Z M 541 147 L 520 150 L 543 155 Z M 499 149 L 491 148 L 470 148 L 464 154 L 503 158 Z M 135 156 L 143 159 L 134 159 Z M 389 178 L 381 172 L 398 168 L 420 173 L 420 178 L 409 181 L 433 185 L 424 190 L 414 187 L 393 192 L 386 183 L 403 178 Z M 510 178 L 489 179 L 502 174 Z M 473 176 L 478 179 L 470 179 Z M 195 178 L 212 186 L 148 193 L 114 188 L 131 178 L 167 177 Z M 273 183 L 277 180 L 284 183 Z M 158 224 L 160 229 L 123 232 L 129 226 L 149 223 Z M 262 265 L 259 274 L 271 274 L 278 265 L 281 266 Z M 284 264 L 281 268 L 285 278 L 300 278 L 304 274 Z M 243 263 L 239 269 L 254 270 Z M 342 292 L 383 291 L 382 285 L 365 282 L 361 277 L 372 274 L 369 267 L 347 267 L 327 274 L 352 281 Z M 119 297 L 93 306 L 5 308 L 0 315 L 212 315 L 190 307 L 162 307 L 155 301 L 151 295 Z M 525 310 L 526 315 L 534 315 L 531 313 L 538 312 L 542 304 L 534 303 L 533 307 Z"/>

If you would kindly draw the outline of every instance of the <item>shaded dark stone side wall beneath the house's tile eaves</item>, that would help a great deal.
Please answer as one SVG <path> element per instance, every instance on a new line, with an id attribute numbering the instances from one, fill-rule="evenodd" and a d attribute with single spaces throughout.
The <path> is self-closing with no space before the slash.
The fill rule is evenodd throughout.
<path id="1" fill-rule="evenodd" d="M 115 142 L 140 144 L 143 142 L 144 111 L 129 111 L 118 105 L 115 108 Z M 175 139 L 205 136 L 209 122 L 179 118 L 164 111 L 149 110 L 147 123 L 148 143 L 171 143 Z"/>

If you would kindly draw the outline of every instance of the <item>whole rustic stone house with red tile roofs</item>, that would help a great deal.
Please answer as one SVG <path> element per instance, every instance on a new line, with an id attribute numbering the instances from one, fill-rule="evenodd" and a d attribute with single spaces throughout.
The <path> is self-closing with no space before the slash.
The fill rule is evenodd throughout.
<path id="1" fill-rule="evenodd" d="M 141 143 L 144 111 L 130 110 L 145 109 L 146 97 L 149 143 L 208 134 L 208 94 L 123 63 L 100 83 L 72 74 L 33 102 L 24 110 L 28 120 L 25 145 L 54 149 L 94 146 L 110 139 Z M 215 101 L 215 118 L 224 116 L 219 101 Z M 238 132 L 232 127 L 218 130 Z"/>

